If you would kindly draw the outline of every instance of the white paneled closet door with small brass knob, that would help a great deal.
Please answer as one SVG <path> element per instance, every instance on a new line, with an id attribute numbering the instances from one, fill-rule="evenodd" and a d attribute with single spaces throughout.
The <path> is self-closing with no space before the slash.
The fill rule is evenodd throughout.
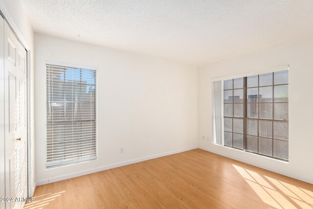
<path id="1" fill-rule="evenodd" d="M 27 198 L 26 50 L 4 22 L 5 196 Z M 20 209 L 23 202 L 8 202 Z"/>

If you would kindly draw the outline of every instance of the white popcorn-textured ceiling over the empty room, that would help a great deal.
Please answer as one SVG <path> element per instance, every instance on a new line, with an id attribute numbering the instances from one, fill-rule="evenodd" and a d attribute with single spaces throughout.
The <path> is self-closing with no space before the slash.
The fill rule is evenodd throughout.
<path id="1" fill-rule="evenodd" d="M 197 66 L 313 34 L 313 0 L 22 2 L 37 33 Z"/>

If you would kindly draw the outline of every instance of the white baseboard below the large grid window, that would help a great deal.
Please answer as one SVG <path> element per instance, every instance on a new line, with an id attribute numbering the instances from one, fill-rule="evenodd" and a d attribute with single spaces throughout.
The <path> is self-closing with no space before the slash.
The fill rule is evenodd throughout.
<path id="1" fill-rule="evenodd" d="M 224 154 L 222 152 L 219 152 L 219 151 L 216 151 L 216 150 L 212 150 L 212 149 L 208 149 L 206 147 L 203 147 L 203 146 L 199 146 L 200 149 L 203 149 L 205 151 L 208 151 L 208 152 L 212 152 L 212 153 L 215 153 L 215 154 L 218 154 L 218 155 L 222 155 L 224 157 L 227 157 L 227 158 L 230 158 L 230 159 L 233 159 L 233 160 L 236 160 L 236 161 L 240 161 L 240 162 L 243 162 L 243 163 L 247 163 L 247 164 L 250 164 L 250 165 L 254 165 L 254 166 L 257 166 L 257 167 L 260 167 L 260 168 L 263 168 L 263 169 L 266 169 L 266 170 L 269 170 L 269 171 L 272 171 L 272 172 L 275 172 L 275 173 L 279 173 L 279 174 L 282 174 L 284 176 L 288 176 L 288 177 L 291 177 L 293 179 L 298 179 L 300 181 L 303 181 L 303 182 L 308 182 L 310 184 L 313 184 L 313 179 L 310 179 L 310 178 L 306 178 L 306 177 L 303 177 L 303 176 L 299 176 L 299 175 L 296 175 L 294 173 L 290 173 L 290 172 L 286 172 L 284 170 L 280 170 L 280 169 L 277 169 L 277 168 L 273 168 L 273 167 L 269 167 L 267 165 L 263 165 L 263 164 L 260 164 L 260 163 L 255 163 L 255 162 L 251 162 L 249 160 L 246 160 L 246 159 L 242 159 L 242 158 L 238 158 L 238 157 L 234 157 L 232 155 L 227 155 L 227 154 Z"/>

